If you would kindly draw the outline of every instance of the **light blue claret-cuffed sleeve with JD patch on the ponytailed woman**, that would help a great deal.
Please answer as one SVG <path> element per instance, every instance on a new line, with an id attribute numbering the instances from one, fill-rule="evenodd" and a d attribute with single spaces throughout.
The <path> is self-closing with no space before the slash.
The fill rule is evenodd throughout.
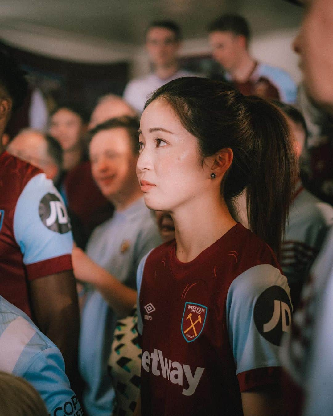
<path id="1" fill-rule="evenodd" d="M 230 285 L 227 329 L 240 391 L 276 382 L 281 338 L 291 331 L 286 277 L 273 265 L 256 265 Z"/>

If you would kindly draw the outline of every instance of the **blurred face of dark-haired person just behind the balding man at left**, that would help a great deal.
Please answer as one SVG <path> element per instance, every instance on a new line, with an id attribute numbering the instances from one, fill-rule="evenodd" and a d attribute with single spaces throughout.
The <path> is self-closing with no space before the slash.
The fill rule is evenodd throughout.
<path id="1" fill-rule="evenodd" d="M 51 117 L 50 134 L 63 150 L 71 150 L 80 143 L 84 125 L 81 117 L 73 111 L 62 108 Z"/>

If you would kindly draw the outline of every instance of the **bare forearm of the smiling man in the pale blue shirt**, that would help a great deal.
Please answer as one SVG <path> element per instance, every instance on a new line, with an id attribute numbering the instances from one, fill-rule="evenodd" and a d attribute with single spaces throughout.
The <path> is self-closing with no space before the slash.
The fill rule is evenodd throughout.
<path id="1" fill-rule="evenodd" d="M 77 280 L 94 285 L 118 317 L 125 317 L 131 312 L 137 297 L 136 290 L 123 285 L 80 248 L 73 248 L 72 263 Z"/>

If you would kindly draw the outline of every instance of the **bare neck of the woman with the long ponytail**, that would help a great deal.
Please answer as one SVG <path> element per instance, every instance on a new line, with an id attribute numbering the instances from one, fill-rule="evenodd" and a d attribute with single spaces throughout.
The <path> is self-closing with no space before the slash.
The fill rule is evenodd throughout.
<path id="1" fill-rule="evenodd" d="M 219 197 L 207 206 L 204 199 L 171 213 L 175 225 L 176 256 L 182 262 L 194 260 L 202 251 L 230 230 L 236 221 Z"/>

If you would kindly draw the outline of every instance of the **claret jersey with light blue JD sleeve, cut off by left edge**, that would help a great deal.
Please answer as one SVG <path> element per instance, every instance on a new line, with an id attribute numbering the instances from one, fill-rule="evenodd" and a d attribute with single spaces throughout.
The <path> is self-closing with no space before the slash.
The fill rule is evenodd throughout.
<path id="1" fill-rule="evenodd" d="M 0 154 L 0 295 L 29 317 L 27 282 L 72 269 L 66 208 L 38 168 Z"/>

